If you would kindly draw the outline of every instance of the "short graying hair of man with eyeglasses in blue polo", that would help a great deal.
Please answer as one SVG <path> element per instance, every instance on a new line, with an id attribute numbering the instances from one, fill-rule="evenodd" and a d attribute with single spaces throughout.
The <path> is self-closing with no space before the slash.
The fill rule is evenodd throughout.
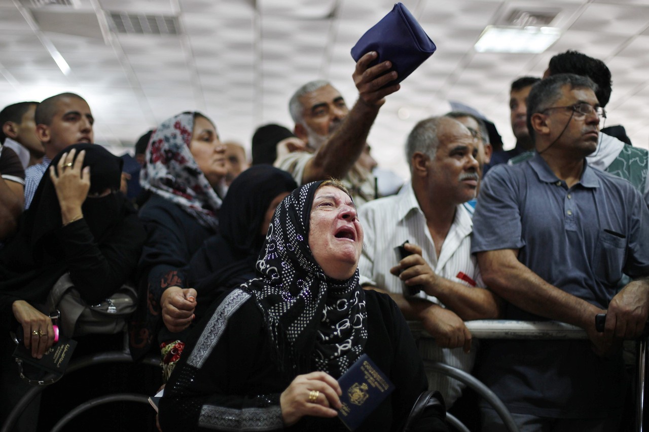
<path id="1" fill-rule="evenodd" d="M 593 90 L 593 93 L 597 93 L 597 84 L 591 78 L 575 75 L 574 73 L 550 75 L 550 77 L 534 84 L 528 95 L 527 102 L 527 126 L 532 139 L 535 135 L 532 127 L 532 115 L 545 111 L 561 99 L 563 86 L 570 86 L 570 90 L 587 88 Z"/>

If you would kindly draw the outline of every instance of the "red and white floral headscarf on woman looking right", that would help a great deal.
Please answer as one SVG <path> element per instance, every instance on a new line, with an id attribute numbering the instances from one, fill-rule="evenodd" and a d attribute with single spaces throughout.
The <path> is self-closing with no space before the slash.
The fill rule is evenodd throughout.
<path id="1" fill-rule="evenodd" d="M 216 229 L 221 198 L 190 152 L 194 114 L 175 115 L 153 131 L 140 173 L 140 184 L 178 204 L 201 225 Z"/>

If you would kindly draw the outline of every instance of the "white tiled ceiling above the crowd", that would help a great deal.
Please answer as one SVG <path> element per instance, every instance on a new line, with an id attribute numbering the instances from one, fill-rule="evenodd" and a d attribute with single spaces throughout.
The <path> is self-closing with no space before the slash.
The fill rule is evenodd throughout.
<path id="1" fill-rule="evenodd" d="M 130 147 L 165 118 L 201 110 L 221 139 L 249 149 L 265 123 L 292 128 L 288 99 L 325 78 L 348 104 L 356 99 L 349 51 L 393 6 L 388 0 L 0 0 L 0 108 L 79 93 L 95 116 L 96 141 Z M 437 52 L 388 97 L 369 142 L 378 162 L 406 176 L 402 147 L 419 120 L 450 101 L 495 122 L 506 147 L 509 84 L 540 76 L 556 53 L 576 49 L 606 62 L 613 95 L 606 125 L 622 124 L 634 145 L 649 147 L 648 0 L 404 0 Z M 556 14 L 563 36 L 542 54 L 476 53 L 490 24 L 513 11 Z M 125 34 L 129 14 L 146 31 Z M 155 16 L 158 16 L 156 19 Z M 142 27 L 142 26 L 141 26 Z M 175 33 L 175 34 L 174 34 Z M 65 75 L 52 53 L 69 65 Z M 126 149 L 124 149 L 126 150 Z"/>

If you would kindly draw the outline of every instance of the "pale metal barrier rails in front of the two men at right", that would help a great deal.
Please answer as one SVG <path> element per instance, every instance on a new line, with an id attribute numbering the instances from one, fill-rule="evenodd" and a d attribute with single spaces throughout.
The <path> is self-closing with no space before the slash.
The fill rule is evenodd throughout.
<path id="1" fill-rule="evenodd" d="M 421 322 L 409 322 L 409 324 L 410 329 L 415 336 L 415 339 L 430 337 L 430 335 L 428 335 L 428 333 L 421 326 Z M 465 324 L 469 331 L 471 331 L 471 335 L 472 337 L 474 337 L 474 339 L 588 339 L 586 331 L 582 328 L 557 321 L 474 320 L 466 321 Z M 637 341 L 635 399 L 636 409 L 635 428 L 633 429 L 635 432 L 643 432 L 644 384 L 647 368 L 646 362 L 648 348 L 647 339 L 648 336 L 645 332 L 645 334 Z M 471 378 L 477 381 L 477 383 L 470 383 L 469 381 L 458 378 L 459 374 L 457 374 L 456 372 L 448 373 L 450 370 L 462 372 L 461 370 L 452 368 L 451 366 L 432 366 L 439 372 L 465 383 L 472 389 L 476 390 L 476 392 L 478 392 L 478 394 L 480 394 L 480 396 L 482 396 L 483 398 L 485 397 L 484 394 L 489 395 L 489 393 L 491 393 L 491 395 L 493 395 L 493 398 L 495 398 L 497 402 L 490 397 L 485 398 L 485 400 L 491 403 L 496 412 L 500 415 L 500 418 L 502 418 L 503 422 L 508 427 L 509 431 L 518 431 L 515 424 L 513 424 L 513 420 L 511 420 L 511 414 L 509 413 L 508 409 L 504 407 L 502 401 L 500 401 L 500 399 L 498 399 L 495 394 L 491 392 L 491 390 L 487 389 L 484 384 L 473 377 Z M 485 392 L 485 389 L 488 390 L 489 393 Z M 500 407 L 500 405 L 502 405 L 502 407 Z M 453 418 L 452 421 L 456 420 Z"/>

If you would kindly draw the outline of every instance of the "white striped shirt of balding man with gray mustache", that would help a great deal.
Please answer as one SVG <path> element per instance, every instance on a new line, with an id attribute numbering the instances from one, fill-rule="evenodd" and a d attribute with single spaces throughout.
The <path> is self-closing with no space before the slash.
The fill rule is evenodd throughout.
<path id="1" fill-rule="evenodd" d="M 365 233 L 365 246 L 358 265 L 361 285 L 374 285 L 391 293 L 402 293 L 403 283 L 390 273 L 390 269 L 399 261 L 395 246 L 408 240 L 409 243 L 421 246 L 422 257 L 437 275 L 472 286 L 466 282 L 468 276 L 469 280 L 476 282 L 476 286 L 484 287 L 476 258 L 471 255 L 471 213 L 463 204 L 457 207 L 439 257 L 426 226 L 426 217 L 419 208 L 410 182 L 402 187 L 398 195 L 368 202 L 361 206 L 358 213 Z M 435 297 L 424 293 L 419 295 L 444 306 Z M 471 353 L 465 354 L 462 348 L 440 348 L 432 338 L 419 341 L 422 359 L 439 361 L 465 372 L 471 372 L 476 349 L 476 342 Z M 464 385 L 459 381 L 432 371 L 426 371 L 426 374 L 429 388 L 439 390 L 448 406 L 461 394 Z"/>

